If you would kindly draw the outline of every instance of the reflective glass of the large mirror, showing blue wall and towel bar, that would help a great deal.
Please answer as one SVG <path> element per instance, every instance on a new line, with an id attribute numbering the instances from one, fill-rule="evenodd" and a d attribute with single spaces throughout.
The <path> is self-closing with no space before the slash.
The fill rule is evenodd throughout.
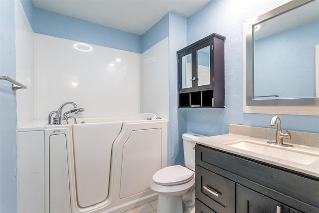
<path id="1" fill-rule="evenodd" d="M 255 99 L 316 97 L 319 10 L 312 14 L 312 4 L 254 25 Z"/>

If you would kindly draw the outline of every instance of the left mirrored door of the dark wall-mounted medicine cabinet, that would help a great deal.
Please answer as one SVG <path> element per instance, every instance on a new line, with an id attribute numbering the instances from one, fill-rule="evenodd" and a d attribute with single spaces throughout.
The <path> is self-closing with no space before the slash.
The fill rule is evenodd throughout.
<path id="1" fill-rule="evenodd" d="M 179 92 L 194 90 L 195 76 L 192 61 L 191 49 L 178 55 Z"/>

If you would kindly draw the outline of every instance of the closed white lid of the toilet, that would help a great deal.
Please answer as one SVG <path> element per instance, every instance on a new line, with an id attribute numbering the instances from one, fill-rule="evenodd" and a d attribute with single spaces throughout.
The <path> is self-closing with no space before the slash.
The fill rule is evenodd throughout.
<path id="1" fill-rule="evenodd" d="M 165 167 L 153 175 L 156 184 L 169 186 L 179 185 L 190 181 L 194 177 L 194 172 L 180 165 Z"/>

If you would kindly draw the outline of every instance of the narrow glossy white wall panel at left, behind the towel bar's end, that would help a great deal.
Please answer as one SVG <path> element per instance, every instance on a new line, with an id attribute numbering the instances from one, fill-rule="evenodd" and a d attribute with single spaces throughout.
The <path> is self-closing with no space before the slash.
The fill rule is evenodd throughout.
<path id="1" fill-rule="evenodd" d="M 16 81 L 27 86 L 16 91 L 19 126 L 34 118 L 34 33 L 18 0 L 15 10 Z"/>

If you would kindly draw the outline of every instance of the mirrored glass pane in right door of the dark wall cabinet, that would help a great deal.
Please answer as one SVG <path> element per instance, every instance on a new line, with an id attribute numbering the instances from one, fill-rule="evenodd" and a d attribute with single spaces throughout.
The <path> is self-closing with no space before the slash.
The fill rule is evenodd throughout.
<path id="1" fill-rule="evenodd" d="M 210 84 L 210 49 L 209 45 L 197 50 L 197 86 Z"/>

